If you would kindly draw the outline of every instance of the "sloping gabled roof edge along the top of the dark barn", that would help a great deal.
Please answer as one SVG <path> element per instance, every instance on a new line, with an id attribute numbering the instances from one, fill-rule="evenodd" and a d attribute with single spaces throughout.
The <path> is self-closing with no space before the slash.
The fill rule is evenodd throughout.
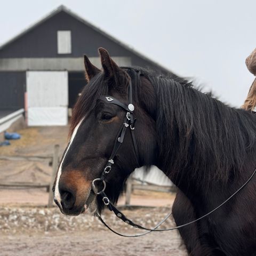
<path id="1" fill-rule="evenodd" d="M 71 15 L 71 17 L 74 17 L 75 19 L 81 21 L 82 23 L 84 23 L 86 26 L 92 28 L 94 31 L 97 31 L 98 33 L 100 33 L 101 35 L 109 38 L 111 41 L 121 45 L 124 49 L 130 51 L 131 53 L 137 55 L 138 57 L 140 57 L 141 59 L 144 59 L 148 62 L 150 62 L 152 65 L 158 66 L 160 69 L 164 70 L 166 73 L 172 73 L 169 69 L 163 67 L 162 65 L 160 65 L 159 63 L 147 58 L 145 55 L 135 51 L 134 49 L 132 49 L 131 47 L 129 47 L 128 45 L 122 43 L 121 41 L 119 41 L 118 39 L 116 39 L 115 37 L 107 34 L 105 31 L 101 30 L 100 28 L 92 25 L 92 23 L 86 21 L 85 19 L 79 17 L 79 15 L 77 15 L 76 13 L 72 12 L 70 9 L 68 9 L 66 6 L 64 5 L 60 5 L 57 9 L 53 10 L 50 14 L 46 15 L 43 19 L 37 21 L 36 23 L 34 23 L 33 25 L 29 26 L 28 28 L 26 28 L 25 30 L 23 30 L 20 34 L 18 34 L 17 36 L 14 36 L 13 38 L 11 38 L 9 41 L 7 41 L 6 43 L 2 44 L 0 46 L 0 50 L 2 50 L 5 46 L 9 45 L 10 43 L 16 41 L 18 38 L 22 37 L 23 35 L 27 34 L 29 31 L 35 29 L 38 25 L 41 25 L 41 23 L 43 23 L 44 21 L 50 19 L 51 17 L 53 17 L 54 15 L 58 14 L 59 12 L 66 12 L 67 14 Z"/>

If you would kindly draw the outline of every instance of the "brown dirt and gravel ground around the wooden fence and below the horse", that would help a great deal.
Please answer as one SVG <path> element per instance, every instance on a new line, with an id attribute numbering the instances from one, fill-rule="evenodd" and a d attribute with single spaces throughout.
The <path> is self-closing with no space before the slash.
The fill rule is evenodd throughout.
<path id="1" fill-rule="evenodd" d="M 57 143 L 62 154 L 68 127 L 31 127 L 19 133 L 21 140 L 11 141 L 11 146 L 0 147 L 0 156 L 48 156 L 52 155 L 53 145 Z M 51 173 L 52 168 L 47 161 L 0 160 L 0 182 L 50 182 Z M 67 217 L 57 207 L 47 209 L 48 195 L 45 189 L 0 188 L 1 256 L 187 255 L 175 230 L 138 238 L 119 237 L 90 215 Z M 135 190 L 131 204 L 158 207 L 124 211 L 135 222 L 153 227 L 170 212 L 174 197 L 174 194 Z M 124 204 L 124 197 L 118 204 Z M 140 233 L 109 212 L 104 212 L 103 217 L 121 233 Z M 173 226 L 175 223 L 170 218 L 163 228 Z"/>

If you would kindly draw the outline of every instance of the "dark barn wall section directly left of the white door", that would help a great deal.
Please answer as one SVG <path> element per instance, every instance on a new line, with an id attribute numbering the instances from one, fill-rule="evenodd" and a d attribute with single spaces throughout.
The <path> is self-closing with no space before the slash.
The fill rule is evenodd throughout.
<path id="1" fill-rule="evenodd" d="M 25 72 L 0 72 L 0 109 L 24 108 Z"/>

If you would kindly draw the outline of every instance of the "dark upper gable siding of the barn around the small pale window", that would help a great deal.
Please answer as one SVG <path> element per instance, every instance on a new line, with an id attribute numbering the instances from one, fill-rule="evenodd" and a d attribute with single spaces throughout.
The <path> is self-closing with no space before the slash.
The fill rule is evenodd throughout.
<path id="1" fill-rule="evenodd" d="M 57 53 L 58 30 L 71 30 L 71 54 Z M 65 11 L 60 11 L 15 41 L 5 45 L 0 50 L 0 58 L 62 58 L 82 57 L 83 54 L 98 57 L 99 47 L 106 48 L 113 57 L 131 57 L 133 66 L 159 69 L 154 63 L 125 49 Z"/>

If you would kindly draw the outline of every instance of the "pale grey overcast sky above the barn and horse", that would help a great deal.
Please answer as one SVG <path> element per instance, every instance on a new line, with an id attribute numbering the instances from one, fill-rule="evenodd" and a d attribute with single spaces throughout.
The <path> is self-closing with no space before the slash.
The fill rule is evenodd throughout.
<path id="1" fill-rule="evenodd" d="M 0 44 L 63 4 L 178 75 L 196 78 L 232 106 L 254 79 L 255 0 L 0 0 Z"/>

